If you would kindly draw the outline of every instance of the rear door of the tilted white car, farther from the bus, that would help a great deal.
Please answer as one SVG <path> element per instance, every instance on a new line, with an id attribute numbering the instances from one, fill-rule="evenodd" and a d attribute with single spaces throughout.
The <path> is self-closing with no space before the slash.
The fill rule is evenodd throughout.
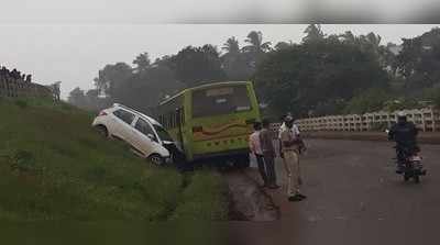
<path id="1" fill-rule="evenodd" d="M 116 123 L 113 129 L 113 135 L 133 145 L 133 122 L 135 114 L 118 109 L 113 112 L 116 116 Z"/>

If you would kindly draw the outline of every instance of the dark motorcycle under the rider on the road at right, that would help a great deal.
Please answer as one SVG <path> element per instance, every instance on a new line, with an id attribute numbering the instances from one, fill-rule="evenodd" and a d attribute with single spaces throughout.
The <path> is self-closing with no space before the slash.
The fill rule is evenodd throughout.
<path id="1" fill-rule="evenodd" d="M 389 133 L 389 131 L 386 131 Z M 404 147 L 404 146 L 395 146 L 394 147 L 397 153 L 397 160 L 402 160 L 403 171 L 397 174 L 403 175 L 404 180 L 408 181 L 409 179 L 414 179 L 416 183 L 420 182 L 420 176 L 426 176 L 427 170 L 424 169 L 424 165 L 421 163 L 421 156 L 419 155 L 420 148 L 417 146 L 414 147 Z"/>

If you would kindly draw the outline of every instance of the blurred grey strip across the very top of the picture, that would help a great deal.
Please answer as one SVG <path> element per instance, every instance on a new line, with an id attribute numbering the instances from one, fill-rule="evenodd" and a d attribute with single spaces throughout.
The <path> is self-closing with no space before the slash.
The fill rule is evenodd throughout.
<path id="1" fill-rule="evenodd" d="M 0 0 L 0 23 L 408 23 L 438 16 L 437 0 Z M 6 11 L 4 11 L 6 10 Z M 437 18 L 436 18 L 437 16 Z M 346 21 L 352 20 L 352 21 Z M 354 22 L 353 22 L 354 21 Z M 378 22 L 377 22 L 378 21 Z M 402 22 L 405 21 L 405 22 Z M 334 23 L 334 22 L 333 22 Z M 432 23 L 432 22 L 420 22 Z"/>

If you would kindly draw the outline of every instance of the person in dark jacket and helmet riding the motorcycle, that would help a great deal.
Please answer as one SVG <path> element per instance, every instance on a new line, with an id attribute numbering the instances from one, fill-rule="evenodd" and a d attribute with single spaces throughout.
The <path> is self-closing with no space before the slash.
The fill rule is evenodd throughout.
<path id="1" fill-rule="evenodd" d="M 397 114 L 397 123 L 388 132 L 388 140 L 396 142 L 397 174 L 404 172 L 405 157 L 408 154 L 419 152 L 417 145 L 418 129 L 413 122 L 408 122 L 404 112 Z"/>

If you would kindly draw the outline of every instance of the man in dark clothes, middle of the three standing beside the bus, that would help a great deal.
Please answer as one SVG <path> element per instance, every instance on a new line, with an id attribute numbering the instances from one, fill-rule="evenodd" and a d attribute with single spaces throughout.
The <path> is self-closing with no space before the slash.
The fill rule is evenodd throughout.
<path id="1" fill-rule="evenodd" d="M 271 131 L 271 123 L 263 120 L 263 130 L 260 132 L 260 143 L 263 151 L 264 163 L 266 164 L 266 174 L 268 188 L 277 189 L 276 172 L 275 172 L 275 147 L 274 135 Z"/>

